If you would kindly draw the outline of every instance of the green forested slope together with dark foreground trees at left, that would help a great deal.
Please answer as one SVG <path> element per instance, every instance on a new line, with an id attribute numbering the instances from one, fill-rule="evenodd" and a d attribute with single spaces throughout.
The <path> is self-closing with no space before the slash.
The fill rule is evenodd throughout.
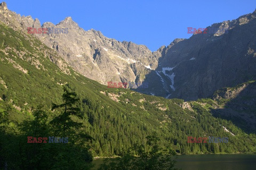
<path id="1" fill-rule="evenodd" d="M 159 148 L 178 154 L 256 151 L 254 133 L 211 114 L 228 101 L 199 99 L 183 109 L 181 99 L 107 88 L 68 67 L 35 37 L 3 24 L 0 31 L 0 167 L 89 169 L 93 157 L 125 158 L 134 146 L 146 147 L 152 134 Z M 68 137 L 68 143 L 27 143 L 27 136 Z M 229 140 L 187 143 L 188 136 Z"/>

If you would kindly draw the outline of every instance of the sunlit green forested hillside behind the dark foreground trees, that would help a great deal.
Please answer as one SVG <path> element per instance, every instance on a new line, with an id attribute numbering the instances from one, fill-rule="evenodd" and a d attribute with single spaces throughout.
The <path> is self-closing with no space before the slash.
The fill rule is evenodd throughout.
<path id="1" fill-rule="evenodd" d="M 94 156 L 122 155 L 133 144 L 145 142 L 152 132 L 161 137 L 162 146 L 170 145 L 178 153 L 255 151 L 254 134 L 212 116 L 212 109 L 225 106 L 223 100 L 183 102 L 107 88 L 79 75 L 34 37 L 3 24 L 0 28 L 1 114 L 10 120 L 6 126 L 12 127 L 7 133 L 16 132 L 24 120 L 33 120 L 31 111 L 37 106 L 44 106 L 50 119 L 58 115 L 51 111 L 51 103 L 61 103 L 62 86 L 68 83 L 81 99 L 84 118 L 77 121 L 82 121 L 83 131 L 95 139 Z M 229 142 L 187 143 L 187 136 L 229 137 Z"/>

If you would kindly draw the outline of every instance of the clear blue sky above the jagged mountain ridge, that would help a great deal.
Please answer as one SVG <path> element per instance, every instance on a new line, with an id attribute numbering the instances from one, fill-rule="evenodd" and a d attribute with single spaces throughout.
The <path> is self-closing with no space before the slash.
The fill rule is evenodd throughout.
<path id="1" fill-rule="evenodd" d="M 189 38 L 187 27 L 206 28 L 233 20 L 256 9 L 255 0 L 243 1 L 5 1 L 9 10 L 31 15 L 43 24 L 71 17 L 85 30 L 101 31 L 118 41 L 131 41 L 156 51 L 175 38 Z"/>

